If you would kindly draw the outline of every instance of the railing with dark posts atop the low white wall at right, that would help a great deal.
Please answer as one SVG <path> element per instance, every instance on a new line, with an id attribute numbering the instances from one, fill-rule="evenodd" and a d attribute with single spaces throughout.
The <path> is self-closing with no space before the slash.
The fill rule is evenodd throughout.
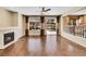
<path id="1" fill-rule="evenodd" d="M 65 26 L 64 30 L 71 35 L 78 36 L 86 38 L 86 25 L 79 25 L 79 26 Z"/>

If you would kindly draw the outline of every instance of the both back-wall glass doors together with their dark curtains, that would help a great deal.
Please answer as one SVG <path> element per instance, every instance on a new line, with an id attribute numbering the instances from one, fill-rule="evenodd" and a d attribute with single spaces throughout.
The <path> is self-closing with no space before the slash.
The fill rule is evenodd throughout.
<path id="1" fill-rule="evenodd" d="M 29 16 L 26 21 L 28 36 L 59 35 L 60 24 L 57 16 Z"/>

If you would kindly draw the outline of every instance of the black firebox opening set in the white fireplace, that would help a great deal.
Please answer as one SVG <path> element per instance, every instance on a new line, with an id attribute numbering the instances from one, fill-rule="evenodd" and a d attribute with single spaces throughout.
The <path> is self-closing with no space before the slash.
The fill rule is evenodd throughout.
<path id="1" fill-rule="evenodd" d="M 13 40 L 14 40 L 14 31 L 7 33 L 7 34 L 3 35 L 4 46 L 8 44 L 8 43 L 10 43 Z"/>

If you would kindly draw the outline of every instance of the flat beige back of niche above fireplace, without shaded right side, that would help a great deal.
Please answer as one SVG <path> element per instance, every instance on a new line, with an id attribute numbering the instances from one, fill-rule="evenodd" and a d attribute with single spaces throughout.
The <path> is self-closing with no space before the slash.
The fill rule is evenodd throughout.
<path id="1" fill-rule="evenodd" d="M 12 13 L 0 8 L 0 27 L 12 26 Z"/>

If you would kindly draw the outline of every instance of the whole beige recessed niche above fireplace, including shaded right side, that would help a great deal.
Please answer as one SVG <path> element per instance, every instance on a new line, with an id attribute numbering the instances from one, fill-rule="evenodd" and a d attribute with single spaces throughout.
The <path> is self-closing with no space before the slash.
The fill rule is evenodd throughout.
<path id="1" fill-rule="evenodd" d="M 17 27 L 17 13 L 0 8 L 0 27 Z"/>

